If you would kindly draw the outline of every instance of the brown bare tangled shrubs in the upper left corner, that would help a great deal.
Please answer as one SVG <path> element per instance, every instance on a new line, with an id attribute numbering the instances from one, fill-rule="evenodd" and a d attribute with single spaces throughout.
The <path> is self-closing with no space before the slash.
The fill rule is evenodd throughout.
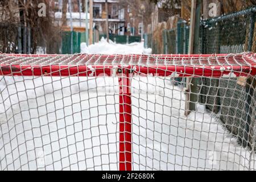
<path id="1" fill-rule="evenodd" d="M 38 16 L 39 3 L 46 4 L 46 17 Z M 54 26 L 48 0 L 0 1 L 1 52 L 17 53 L 19 29 L 22 43 L 26 37 L 24 35 L 28 35 L 23 31 L 31 30 L 31 53 L 36 53 L 38 46 L 46 47 L 47 53 L 55 53 L 53 47 L 61 40 L 60 28 Z M 24 47 L 22 49 L 24 51 Z M 22 53 L 26 53 L 26 50 Z"/>

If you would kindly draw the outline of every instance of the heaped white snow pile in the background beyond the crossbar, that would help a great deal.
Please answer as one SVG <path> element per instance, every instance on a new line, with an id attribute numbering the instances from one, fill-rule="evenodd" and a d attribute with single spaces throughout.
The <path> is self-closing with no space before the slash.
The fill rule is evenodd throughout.
<path id="1" fill-rule="evenodd" d="M 109 43 L 101 38 L 100 42 L 86 46 L 86 43 L 81 43 L 81 53 L 102 53 L 102 54 L 151 54 L 152 49 L 144 48 L 143 42 L 131 44 L 117 44 L 112 40 Z"/>

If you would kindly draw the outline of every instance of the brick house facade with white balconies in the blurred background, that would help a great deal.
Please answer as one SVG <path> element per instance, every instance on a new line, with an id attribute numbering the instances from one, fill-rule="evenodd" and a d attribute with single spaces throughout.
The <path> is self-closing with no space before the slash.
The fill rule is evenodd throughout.
<path id="1" fill-rule="evenodd" d="M 58 25 L 61 25 L 61 11 L 62 0 L 55 0 L 55 20 Z M 89 2 L 89 1 L 88 1 Z M 67 5 L 68 6 L 68 5 Z M 72 21 L 73 28 L 79 29 L 80 18 L 79 15 L 79 1 L 72 1 Z M 135 15 L 129 7 L 122 7 L 118 0 L 108 0 L 108 19 L 109 19 L 109 34 L 110 35 L 141 35 L 142 19 L 136 16 L 131 17 L 130 14 Z M 93 0 L 93 27 L 96 28 L 100 34 L 106 34 L 106 4 L 105 0 Z M 88 16 L 89 18 L 89 16 Z M 81 30 L 85 28 L 85 14 L 81 15 Z M 67 7 L 67 26 L 70 26 L 69 8 Z M 144 28 L 146 31 L 146 28 Z"/>

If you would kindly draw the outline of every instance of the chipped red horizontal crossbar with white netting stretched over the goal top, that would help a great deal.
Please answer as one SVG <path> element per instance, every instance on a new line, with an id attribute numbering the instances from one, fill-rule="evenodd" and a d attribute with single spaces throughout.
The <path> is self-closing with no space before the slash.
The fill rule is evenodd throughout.
<path id="1" fill-rule="evenodd" d="M 239 55 L 0 55 L 0 75 L 248 77 L 256 75 L 255 54 Z M 120 72 L 120 71 L 119 71 Z"/>

